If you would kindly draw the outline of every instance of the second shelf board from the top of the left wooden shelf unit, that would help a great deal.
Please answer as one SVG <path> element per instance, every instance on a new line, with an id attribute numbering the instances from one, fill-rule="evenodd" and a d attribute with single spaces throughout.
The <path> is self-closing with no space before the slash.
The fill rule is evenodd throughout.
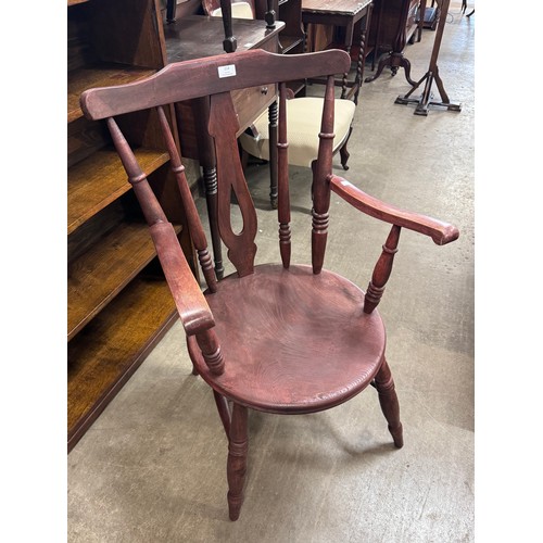
<path id="1" fill-rule="evenodd" d="M 166 152 L 152 149 L 138 149 L 135 154 L 148 175 L 169 160 Z M 101 149 L 72 166 L 67 186 L 68 235 L 131 189 L 118 154 L 112 149 Z"/>

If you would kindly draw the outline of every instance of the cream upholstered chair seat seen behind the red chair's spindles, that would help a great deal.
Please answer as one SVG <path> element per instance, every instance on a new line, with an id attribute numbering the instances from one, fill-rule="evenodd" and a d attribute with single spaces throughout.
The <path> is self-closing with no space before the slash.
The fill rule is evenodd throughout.
<path id="1" fill-rule="evenodd" d="M 318 132 L 323 114 L 323 98 L 305 97 L 287 100 L 287 138 L 289 142 L 289 164 L 308 167 L 317 157 Z M 333 152 L 349 136 L 356 105 L 351 100 L 334 100 Z M 269 160 L 268 112 L 264 111 L 253 123 L 257 136 L 242 134 L 239 138 L 241 147 L 249 154 Z"/>

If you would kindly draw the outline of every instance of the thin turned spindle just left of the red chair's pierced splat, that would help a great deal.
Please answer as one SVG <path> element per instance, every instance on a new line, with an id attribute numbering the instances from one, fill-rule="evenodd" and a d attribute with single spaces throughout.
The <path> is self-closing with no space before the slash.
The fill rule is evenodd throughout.
<path id="1" fill-rule="evenodd" d="M 190 233 L 192 236 L 192 242 L 198 252 L 198 260 L 200 261 L 200 266 L 205 278 L 205 282 L 212 292 L 217 290 L 217 279 L 215 277 L 215 270 L 213 269 L 213 262 L 211 260 L 210 252 L 207 250 L 207 240 L 203 231 L 202 223 L 198 216 L 198 211 L 194 205 L 194 200 L 190 192 L 189 185 L 187 182 L 187 177 L 185 175 L 185 166 L 181 164 L 181 157 L 177 152 L 177 147 L 174 141 L 174 136 L 169 128 L 166 114 L 163 108 L 160 105 L 157 109 L 159 121 L 161 124 L 162 135 L 166 142 L 166 147 L 169 153 L 169 164 L 172 172 L 175 174 L 177 186 L 181 194 L 181 202 L 185 210 L 185 215 L 187 217 L 187 223 L 190 228 Z"/>

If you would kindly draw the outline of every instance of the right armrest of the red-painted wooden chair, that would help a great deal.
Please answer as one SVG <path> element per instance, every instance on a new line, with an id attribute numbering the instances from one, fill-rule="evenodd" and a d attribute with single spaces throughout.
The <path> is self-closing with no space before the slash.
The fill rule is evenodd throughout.
<path id="1" fill-rule="evenodd" d="M 429 236 L 438 245 L 450 243 L 459 236 L 458 229 L 449 223 L 387 204 L 337 175 L 331 175 L 329 179 L 330 188 L 336 194 L 374 218 Z"/>

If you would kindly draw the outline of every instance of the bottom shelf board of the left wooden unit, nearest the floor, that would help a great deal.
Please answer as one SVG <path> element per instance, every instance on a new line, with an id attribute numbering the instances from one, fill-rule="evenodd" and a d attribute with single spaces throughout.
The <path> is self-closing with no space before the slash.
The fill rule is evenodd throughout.
<path id="1" fill-rule="evenodd" d="M 68 449 L 176 319 L 165 280 L 137 278 L 68 343 Z"/>

